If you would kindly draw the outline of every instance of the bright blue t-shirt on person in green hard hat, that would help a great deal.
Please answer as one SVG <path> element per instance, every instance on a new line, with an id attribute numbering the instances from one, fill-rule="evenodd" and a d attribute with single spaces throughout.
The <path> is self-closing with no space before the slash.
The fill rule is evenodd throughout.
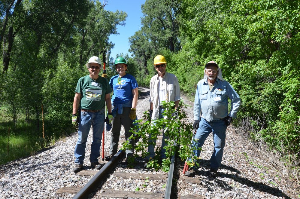
<path id="1" fill-rule="evenodd" d="M 109 85 L 114 90 L 111 102 L 114 105 L 125 104 L 133 99 L 132 90 L 138 87 L 136 79 L 129 74 L 119 78 L 119 75 L 111 77 Z"/>

